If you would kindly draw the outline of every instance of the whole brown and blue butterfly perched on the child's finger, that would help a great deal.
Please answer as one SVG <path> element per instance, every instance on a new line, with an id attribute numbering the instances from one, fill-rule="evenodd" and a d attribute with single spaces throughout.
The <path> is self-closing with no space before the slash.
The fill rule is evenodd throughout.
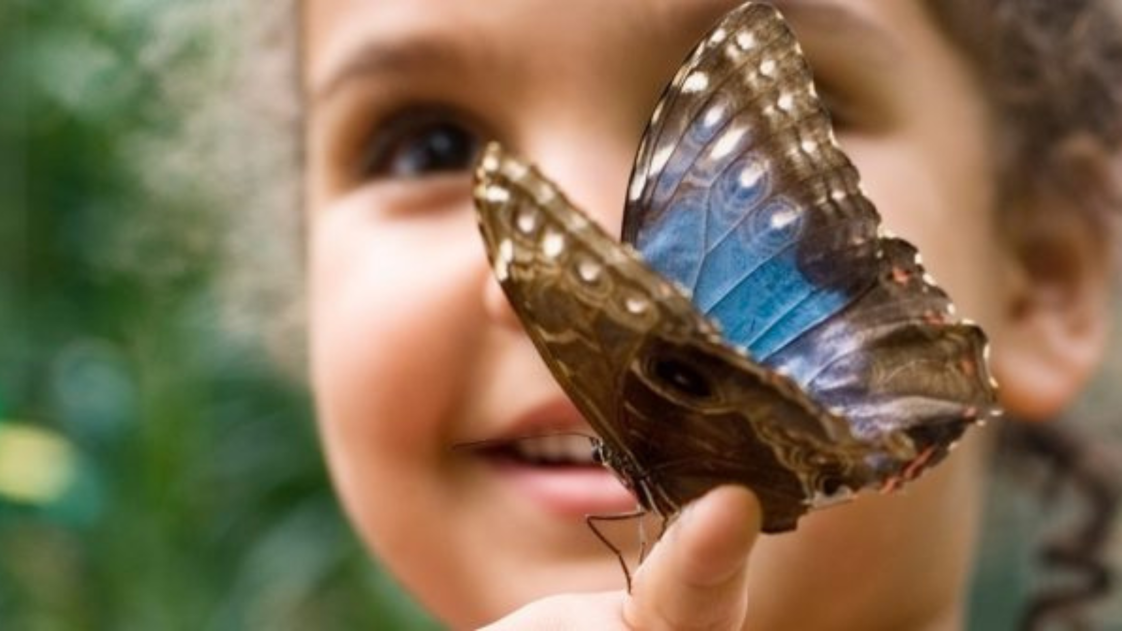
<path id="1" fill-rule="evenodd" d="M 891 490 L 1000 413 L 983 331 L 889 235 L 780 12 L 734 9 L 643 136 L 623 241 L 496 144 L 494 274 L 596 452 L 665 522 L 726 483 L 763 530 Z"/>

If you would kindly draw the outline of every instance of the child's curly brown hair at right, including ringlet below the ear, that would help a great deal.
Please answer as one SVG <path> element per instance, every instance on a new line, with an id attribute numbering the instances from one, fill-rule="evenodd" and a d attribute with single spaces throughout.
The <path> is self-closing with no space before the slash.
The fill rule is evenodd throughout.
<path id="1" fill-rule="evenodd" d="M 1114 258 L 1122 210 L 1122 25 L 1113 0 L 927 0 L 977 73 L 996 124 L 995 220 L 1027 269 L 1064 281 Z M 1050 203 L 1060 200 L 1064 203 Z M 1073 247 L 1094 252 L 1074 252 Z M 1010 423 L 1004 447 L 1054 472 L 1049 493 L 1078 495 L 1083 523 L 1041 547 L 1042 563 L 1074 585 L 1032 596 L 1022 629 L 1087 628 L 1091 603 L 1114 577 L 1104 547 L 1120 502 L 1120 472 L 1066 424 Z"/>

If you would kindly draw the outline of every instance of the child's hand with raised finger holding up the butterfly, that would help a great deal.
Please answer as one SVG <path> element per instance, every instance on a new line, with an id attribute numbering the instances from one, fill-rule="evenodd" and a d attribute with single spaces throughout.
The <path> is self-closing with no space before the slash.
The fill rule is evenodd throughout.
<path id="1" fill-rule="evenodd" d="M 760 520 L 760 505 L 749 491 L 711 491 L 691 504 L 651 551 L 635 573 L 631 595 L 620 591 L 542 598 L 487 631 L 741 629 L 748 552 Z"/>

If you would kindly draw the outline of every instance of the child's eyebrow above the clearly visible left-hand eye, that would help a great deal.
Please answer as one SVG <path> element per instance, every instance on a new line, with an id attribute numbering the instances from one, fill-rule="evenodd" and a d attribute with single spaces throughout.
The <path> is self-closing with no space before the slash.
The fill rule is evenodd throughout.
<path id="1" fill-rule="evenodd" d="M 322 76 L 309 80 L 311 102 L 322 102 L 355 79 L 376 75 L 406 76 L 423 68 L 458 65 L 462 56 L 456 47 L 433 37 L 374 38 L 346 53 L 343 60 Z"/>

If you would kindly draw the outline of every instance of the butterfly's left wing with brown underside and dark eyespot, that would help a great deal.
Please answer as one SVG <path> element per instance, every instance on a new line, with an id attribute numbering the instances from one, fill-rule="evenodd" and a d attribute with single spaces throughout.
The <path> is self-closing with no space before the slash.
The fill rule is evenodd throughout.
<path id="1" fill-rule="evenodd" d="M 475 198 L 494 273 L 528 337 L 646 507 L 670 515 L 739 483 L 778 531 L 809 500 L 879 479 L 845 421 L 724 344 L 678 287 L 535 168 L 491 145 Z"/>

